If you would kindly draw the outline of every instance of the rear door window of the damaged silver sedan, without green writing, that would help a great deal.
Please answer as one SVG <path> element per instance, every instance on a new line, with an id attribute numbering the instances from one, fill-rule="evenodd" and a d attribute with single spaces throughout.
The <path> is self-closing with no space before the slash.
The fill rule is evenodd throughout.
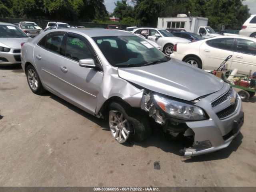
<path id="1" fill-rule="evenodd" d="M 47 35 L 45 48 L 60 53 L 60 46 L 64 33 L 51 33 Z"/>

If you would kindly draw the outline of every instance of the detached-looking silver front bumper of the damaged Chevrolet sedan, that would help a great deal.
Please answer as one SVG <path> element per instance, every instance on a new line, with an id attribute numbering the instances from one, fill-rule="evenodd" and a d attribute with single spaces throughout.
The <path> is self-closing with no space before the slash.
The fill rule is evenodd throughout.
<path id="1" fill-rule="evenodd" d="M 184 157 L 197 156 L 226 148 L 239 134 L 244 120 L 244 112 L 242 112 L 242 101 L 240 97 L 236 92 L 233 95 L 236 95 L 238 99 L 236 109 L 226 118 L 220 119 L 216 114 L 218 110 L 222 110 L 228 105 L 223 102 L 220 104 L 219 109 L 218 106 L 212 109 L 211 105 L 206 108 L 204 107 L 210 117 L 208 120 L 186 122 L 186 125 L 194 132 L 194 144 L 192 147 L 182 150 Z M 213 98 L 212 95 L 209 97 L 210 99 Z M 196 105 L 201 107 L 202 105 L 207 106 L 207 101 L 209 101 L 208 97 L 202 99 L 200 101 L 202 103 L 198 102 Z M 226 100 L 226 102 L 228 101 Z"/>

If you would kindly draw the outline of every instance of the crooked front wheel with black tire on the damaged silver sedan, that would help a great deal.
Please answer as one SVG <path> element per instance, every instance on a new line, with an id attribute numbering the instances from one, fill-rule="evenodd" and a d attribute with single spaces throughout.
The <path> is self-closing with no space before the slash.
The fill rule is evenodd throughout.
<path id="1" fill-rule="evenodd" d="M 141 142 L 151 135 L 149 118 L 143 111 L 133 109 L 122 102 L 112 102 L 108 112 L 110 131 L 117 142 Z"/>

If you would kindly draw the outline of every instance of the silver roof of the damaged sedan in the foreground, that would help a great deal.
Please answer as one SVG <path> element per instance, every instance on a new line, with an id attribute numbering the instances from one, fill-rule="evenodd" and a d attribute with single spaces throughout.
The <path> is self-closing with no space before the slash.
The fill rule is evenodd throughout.
<path id="1" fill-rule="evenodd" d="M 52 30 L 51 30 L 52 31 Z M 122 30 L 109 30 L 102 28 L 62 28 L 54 29 L 54 31 L 69 31 L 69 32 L 82 32 L 90 37 L 103 37 L 103 36 L 135 36 L 135 34 L 128 34 L 127 31 Z"/>

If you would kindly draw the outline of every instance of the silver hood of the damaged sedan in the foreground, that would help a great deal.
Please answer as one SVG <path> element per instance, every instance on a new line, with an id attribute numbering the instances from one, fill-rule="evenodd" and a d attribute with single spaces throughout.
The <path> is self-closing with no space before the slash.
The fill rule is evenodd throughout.
<path id="1" fill-rule="evenodd" d="M 146 89 L 188 101 L 216 92 L 224 85 L 216 76 L 173 58 L 150 66 L 118 68 L 118 74 Z"/>

